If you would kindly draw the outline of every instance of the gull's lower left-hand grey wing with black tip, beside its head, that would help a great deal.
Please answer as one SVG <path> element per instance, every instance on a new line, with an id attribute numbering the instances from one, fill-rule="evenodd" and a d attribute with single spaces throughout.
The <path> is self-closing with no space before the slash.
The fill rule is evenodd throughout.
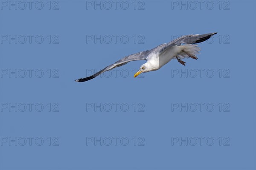
<path id="1" fill-rule="evenodd" d="M 102 69 L 101 71 L 97 72 L 96 74 L 93 74 L 92 76 L 90 77 L 85 77 L 85 78 L 81 78 L 81 79 L 76 79 L 75 81 L 76 82 L 85 82 L 85 81 L 88 81 L 90 79 L 93 79 L 97 76 L 99 76 L 100 74 L 104 73 L 105 71 L 109 71 L 113 68 L 116 68 L 116 67 L 120 67 L 122 65 L 125 65 L 127 64 L 128 62 L 130 61 L 136 61 L 136 60 L 146 60 L 146 57 L 148 55 L 149 51 L 142 51 L 142 52 L 139 52 L 139 53 L 136 53 L 136 54 L 131 54 L 129 56 L 126 56 L 120 60 L 118 60 L 117 62 L 109 65 L 108 67 L 105 67 L 104 69 Z"/>

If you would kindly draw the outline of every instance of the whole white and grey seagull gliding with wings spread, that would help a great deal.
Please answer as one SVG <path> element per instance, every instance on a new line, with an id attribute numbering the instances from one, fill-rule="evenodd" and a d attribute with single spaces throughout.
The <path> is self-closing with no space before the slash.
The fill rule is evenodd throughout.
<path id="1" fill-rule="evenodd" d="M 131 54 L 129 56 L 126 56 L 120 59 L 119 61 L 109 65 L 108 67 L 102 69 L 96 74 L 93 74 L 90 77 L 76 79 L 75 81 L 76 82 L 88 81 L 90 79 L 93 79 L 99 76 L 105 71 L 109 71 L 113 68 L 125 65 L 130 61 L 136 61 L 136 60 L 147 60 L 147 62 L 140 66 L 140 70 L 136 74 L 134 74 L 134 77 L 137 77 L 141 73 L 158 70 L 161 67 L 163 67 L 163 65 L 171 61 L 171 59 L 177 59 L 177 61 L 180 62 L 180 64 L 185 65 L 186 62 L 182 61 L 181 59 L 184 59 L 184 58 L 198 59 L 196 57 L 196 54 L 199 54 L 198 51 L 200 51 L 200 48 L 198 47 L 198 45 L 196 45 L 196 43 L 204 42 L 205 40 L 208 40 L 210 37 L 212 37 L 212 35 L 214 34 L 217 34 L 217 32 L 209 33 L 209 34 L 201 34 L 201 35 L 191 34 L 191 35 L 182 36 L 167 44 L 165 43 L 165 44 L 158 45 L 157 47 L 151 50 L 142 51 L 136 54 Z"/>

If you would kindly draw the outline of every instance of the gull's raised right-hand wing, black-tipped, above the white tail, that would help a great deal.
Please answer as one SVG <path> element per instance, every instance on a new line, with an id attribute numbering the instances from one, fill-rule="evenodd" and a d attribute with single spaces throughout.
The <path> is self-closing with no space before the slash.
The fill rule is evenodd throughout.
<path id="1" fill-rule="evenodd" d="M 212 37 L 212 35 L 217 34 L 217 32 L 214 33 L 209 33 L 209 34 L 195 34 L 195 35 L 184 35 L 180 38 L 177 38 L 169 43 L 167 43 L 161 50 L 160 50 L 160 54 L 169 50 L 170 48 L 172 48 L 172 46 L 175 45 L 181 45 L 181 44 L 196 44 L 196 43 L 200 43 L 200 42 L 204 42 L 206 40 L 208 40 L 210 37 Z"/>

